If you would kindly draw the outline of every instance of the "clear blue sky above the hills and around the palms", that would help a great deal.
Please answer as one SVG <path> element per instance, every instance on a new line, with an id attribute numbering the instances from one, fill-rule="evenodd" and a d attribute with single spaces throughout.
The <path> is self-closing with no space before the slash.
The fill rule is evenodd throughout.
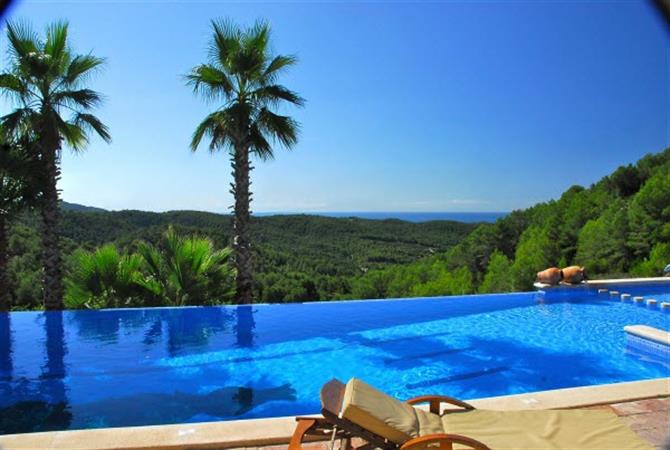
<path id="1" fill-rule="evenodd" d="M 213 106 L 182 75 L 229 17 L 270 22 L 307 99 L 299 145 L 255 164 L 254 210 L 506 211 L 670 145 L 670 34 L 649 4 L 23 1 L 10 18 L 68 19 L 108 60 L 92 86 L 113 142 L 64 154 L 67 201 L 227 210 L 227 155 L 188 150 Z"/>

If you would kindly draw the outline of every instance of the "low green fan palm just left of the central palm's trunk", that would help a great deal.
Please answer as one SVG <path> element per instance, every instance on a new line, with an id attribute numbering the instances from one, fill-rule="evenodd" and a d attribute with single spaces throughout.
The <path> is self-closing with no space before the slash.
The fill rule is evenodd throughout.
<path id="1" fill-rule="evenodd" d="M 137 283 L 171 306 L 216 305 L 234 294 L 231 251 L 215 250 L 208 238 L 183 237 L 170 227 L 160 245 L 138 246 L 143 275 Z"/>

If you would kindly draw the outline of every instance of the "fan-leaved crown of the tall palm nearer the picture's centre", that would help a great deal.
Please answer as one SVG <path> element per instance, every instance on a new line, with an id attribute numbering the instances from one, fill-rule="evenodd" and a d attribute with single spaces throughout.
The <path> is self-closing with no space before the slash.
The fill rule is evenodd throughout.
<path id="1" fill-rule="evenodd" d="M 229 21 L 213 21 L 212 30 L 208 62 L 194 67 L 186 81 L 196 95 L 220 106 L 198 125 L 191 149 L 195 151 L 205 137 L 210 151 L 235 152 L 245 145 L 261 159 L 274 157 L 273 141 L 291 148 L 299 125 L 273 109 L 304 104 L 298 94 L 277 84 L 296 58 L 270 53 L 270 27 L 264 22 L 242 30 Z"/>

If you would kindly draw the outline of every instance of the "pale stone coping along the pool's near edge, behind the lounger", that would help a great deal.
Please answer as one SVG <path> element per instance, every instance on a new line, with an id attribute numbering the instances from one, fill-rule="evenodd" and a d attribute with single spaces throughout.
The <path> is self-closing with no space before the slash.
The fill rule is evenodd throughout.
<path id="1" fill-rule="evenodd" d="M 670 377 L 469 400 L 480 409 L 581 408 L 670 396 Z M 3 450 L 173 450 L 287 444 L 295 417 L 0 435 Z"/>

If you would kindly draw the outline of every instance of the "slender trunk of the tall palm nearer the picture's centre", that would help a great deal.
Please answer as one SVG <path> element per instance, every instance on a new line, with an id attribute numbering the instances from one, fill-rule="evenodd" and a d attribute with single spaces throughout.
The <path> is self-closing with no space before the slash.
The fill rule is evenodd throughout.
<path id="1" fill-rule="evenodd" d="M 237 304 L 252 303 L 253 269 L 251 265 L 251 237 L 249 230 L 249 204 L 251 203 L 251 185 L 249 172 L 249 147 L 235 147 L 233 158 L 233 177 L 235 183 L 231 193 L 235 196 L 235 215 L 233 217 L 233 259 L 237 269 Z"/>

